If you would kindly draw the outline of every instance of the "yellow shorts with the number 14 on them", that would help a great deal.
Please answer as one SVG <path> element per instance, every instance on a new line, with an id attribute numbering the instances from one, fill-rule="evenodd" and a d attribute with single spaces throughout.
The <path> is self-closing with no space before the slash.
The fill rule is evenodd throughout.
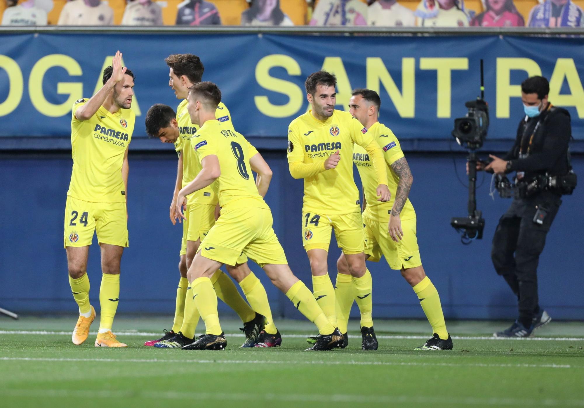
<path id="1" fill-rule="evenodd" d="M 307 251 L 317 248 L 328 251 L 331 230 L 334 228 L 336 242 L 344 254 L 363 253 L 363 220 L 360 212 L 331 216 L 303 213 L 302 226 L 302 241 Z"/>

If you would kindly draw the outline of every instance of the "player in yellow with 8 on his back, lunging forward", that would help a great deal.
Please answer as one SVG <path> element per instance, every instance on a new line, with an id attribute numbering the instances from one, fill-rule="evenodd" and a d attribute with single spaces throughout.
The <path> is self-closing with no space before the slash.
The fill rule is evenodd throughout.
<path id="1" fill-rule="evenodd" d="M 221 350 L 227 345 L 210 277 L 223 264 L 240 264 L 243 254 L 260 265 L 272 283 L 317 325 L 322 336 L 311 350 L 340 347 L 342 334 L 322 312 L 310 290 L 288 267 L 284 250 L 272 229 L 272 212 L 262 198 L 269 180 L 260 180 L 257 186 L 253 181 L 252 170 L 257 172 L 269 166 L 244 136 L 215 119 L 215 110 L 221 102 L 217 85 L 211 82 L 194 84 L 188 101 L 191 121 L 200 126 L 192 144 L 203 168 L 179 191 L 176 211 L 183 217 L 181 208 L 186 197 L 217 180 L 221 216 L 204 238 L 187 272 L 206 333 L 184 348 Z"/>

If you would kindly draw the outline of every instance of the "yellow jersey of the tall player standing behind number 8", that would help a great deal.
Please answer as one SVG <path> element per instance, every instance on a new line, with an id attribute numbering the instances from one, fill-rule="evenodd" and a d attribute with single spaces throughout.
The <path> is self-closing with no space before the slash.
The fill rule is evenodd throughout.
<path id="1" fill-rule="evenodd" d="M 224 123 L 228 129 L 233 130 L 233 124 L 231 123 L 231 115 L 227 106 L 223 102 L 219 103 L 217 106 L 217 111 L 215 112 L 215 117 L 221 123 Z M 187 100 L 180 102 L 178 108 L 176 109 L 176 122 L 179 125 L 179 139 L 175 142 L 175 150 L 177 152 L 182 151 L 183 158 L 183 179 L 182 186 L 186 186 L 191 181 L 197 177 L 197 174 L 201 171 L 201 163 L 197 159 L 197 155 L 194 153 L 194 148 L 190 144 L 190 140 L 199 130 L 199 126 L 194 125 L 190 122 L 189 111 L 187 110 Z M 217 204 L 217 188 L 214 184 L 211 184 L 207 188 L 200 191 L 196 191 L 189 196 L 187 196 L 188 204 Z"/>

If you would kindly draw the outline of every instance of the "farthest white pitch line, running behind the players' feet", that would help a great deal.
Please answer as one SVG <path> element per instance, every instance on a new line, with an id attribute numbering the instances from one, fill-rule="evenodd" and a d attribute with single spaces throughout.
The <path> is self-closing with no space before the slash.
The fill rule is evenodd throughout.
<path id="1" fill-rule="evenodd" d="M 315 330 L 316 331 L 316 330 Z M 0 334 L 34 334 L 36 336 L 71 336 L 71 331 L 48 331 L 48 330 L 0 330 Z M 92 331 L 92 335 L 97 335 L 97 331 Z M 149 333 L 145 331 L 116 330 L 116 334 L 139 337 L 157 337 L 162 333 Z M 242 333 L 227 333 L 229 337 L 244 337 Z M 306 338 L 310 334 L 284 334 L 283 338 Z M 361 338 L 354 334 L 349 334 L 349 338 Z M 428 336 L 384 336 L 378 335 L 377 338 L 388 340 L 427 340 Z M 492 336 L 452 336 L 453 340 L 523 340 L 523 341 L 584 341 L 584 337 L 492 337 Z"/>

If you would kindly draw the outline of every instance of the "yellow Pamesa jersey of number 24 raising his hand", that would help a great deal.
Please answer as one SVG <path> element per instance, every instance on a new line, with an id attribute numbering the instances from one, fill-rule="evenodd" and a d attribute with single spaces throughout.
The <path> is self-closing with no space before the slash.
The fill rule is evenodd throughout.
<path id="1" fill-rule="evenodd" d="M 78 120 L 75 112 L 87 101 L 79 99 L 71 113 L 73 170 L 67 195 L 96 203 L 126 202 L 121 166 L 132 140 L 135 114 L 131 109 L 111 113 L 100 106 L 88 120 Z"/>

